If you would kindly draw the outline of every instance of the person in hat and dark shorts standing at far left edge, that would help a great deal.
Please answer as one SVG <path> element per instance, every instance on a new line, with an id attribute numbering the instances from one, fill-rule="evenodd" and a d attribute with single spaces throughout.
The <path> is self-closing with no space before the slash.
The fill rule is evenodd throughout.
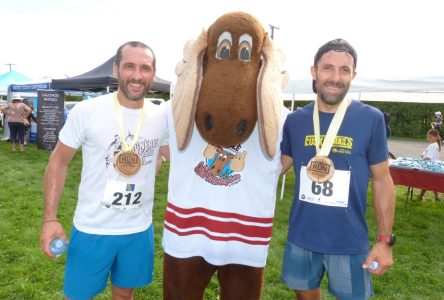
<path id="1" fill-rule="evenodd" d="M 14 97 L 11 103 L 6 103 L 0 107 L 1 112 L 5 112 L 8 119 L 9 138 L 11 140 L 11 149 L 16 150 L 16 144 L 19 144 L 20 152 L 25 151 L 25 125 L 23 118 L 28 118 L 32 111 L 29 106 L 22 102 L 23 98 Z"/>

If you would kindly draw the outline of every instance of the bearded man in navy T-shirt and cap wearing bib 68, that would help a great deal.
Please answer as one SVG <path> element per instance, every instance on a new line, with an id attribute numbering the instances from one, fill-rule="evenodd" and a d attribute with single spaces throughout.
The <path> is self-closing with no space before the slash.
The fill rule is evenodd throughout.
<path id="1" fill-rule="evenodd" d="M 311 67 L 317 98 L 284 125 L 282 172 L 293 166 L 296 183 L 281 279 L 298 299 L 321 299 L 324 273 L 337 299 L 368 299 L 371 273 L 381 275 L 393 264 L 395 194 L 386 127 L 380 110 L 347 97 L 356 63 L 356 51 L 342 39 L 319 48 Z M 371 250 L 370 178 L 378 227 Z M 379 266 L 369 268 L 374 261 Z"/>

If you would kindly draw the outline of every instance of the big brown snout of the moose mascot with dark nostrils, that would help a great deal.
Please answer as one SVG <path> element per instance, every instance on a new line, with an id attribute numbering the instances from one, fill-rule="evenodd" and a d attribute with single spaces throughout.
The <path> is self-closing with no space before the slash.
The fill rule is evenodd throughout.
<path id="1" fill-rule="evenodd" d="M 241 69 L 242 72 L 231 72 L 231 69 Z M 222 70 L 227 76 L 221 80 Z M 237 61 L 223 61 L 209 66 L 196 107 L 196 125 L 203 139 L 224 147 L 247 140 L 257 121 L 258 73 L 250 64 Z M 239 78 L 238 74 L 245 76 Z"/>

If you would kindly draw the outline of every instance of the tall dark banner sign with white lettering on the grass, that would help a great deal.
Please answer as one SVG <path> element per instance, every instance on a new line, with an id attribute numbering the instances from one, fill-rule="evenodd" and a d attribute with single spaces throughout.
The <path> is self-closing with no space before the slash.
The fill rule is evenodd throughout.
<path id="1" fill-rule="evenodd" d="M 65 93 L 37 91 L 37 149 L 53 150 L 64 123 Z"/>

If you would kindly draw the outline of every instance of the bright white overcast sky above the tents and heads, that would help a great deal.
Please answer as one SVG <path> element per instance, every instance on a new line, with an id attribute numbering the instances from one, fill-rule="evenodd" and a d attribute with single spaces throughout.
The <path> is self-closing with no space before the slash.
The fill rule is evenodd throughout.
<path id="1" fill-rule="evenodd" d="M 292 79 L 310 78 L 317 49 L 343 38 L 361 78 L 444 76 L 441 0 L 0 0 L 0 74 L 38 80 L 85 73 L 130 40 L 151 46 L 157 76 L 175 81 L 185 42 L 219 16 L 245 11 L 286 55 Z"/>

